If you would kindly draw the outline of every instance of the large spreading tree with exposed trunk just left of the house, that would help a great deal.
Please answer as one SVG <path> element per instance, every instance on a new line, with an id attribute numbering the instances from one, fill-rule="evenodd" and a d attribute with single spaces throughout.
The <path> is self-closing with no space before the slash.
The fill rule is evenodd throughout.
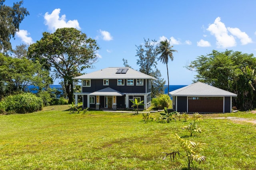
<path id="1" fill-rule="evenodd" d="M 44 32 L 42 39 L 28 47 L 28 57 L 51 64 L 52 75 L 62 78 L 68 103 L 74 102 L 73 77 L 80 76 L 97 61 L 96 40 L 75 28 L 60 28 L 54 33 Z"/>

